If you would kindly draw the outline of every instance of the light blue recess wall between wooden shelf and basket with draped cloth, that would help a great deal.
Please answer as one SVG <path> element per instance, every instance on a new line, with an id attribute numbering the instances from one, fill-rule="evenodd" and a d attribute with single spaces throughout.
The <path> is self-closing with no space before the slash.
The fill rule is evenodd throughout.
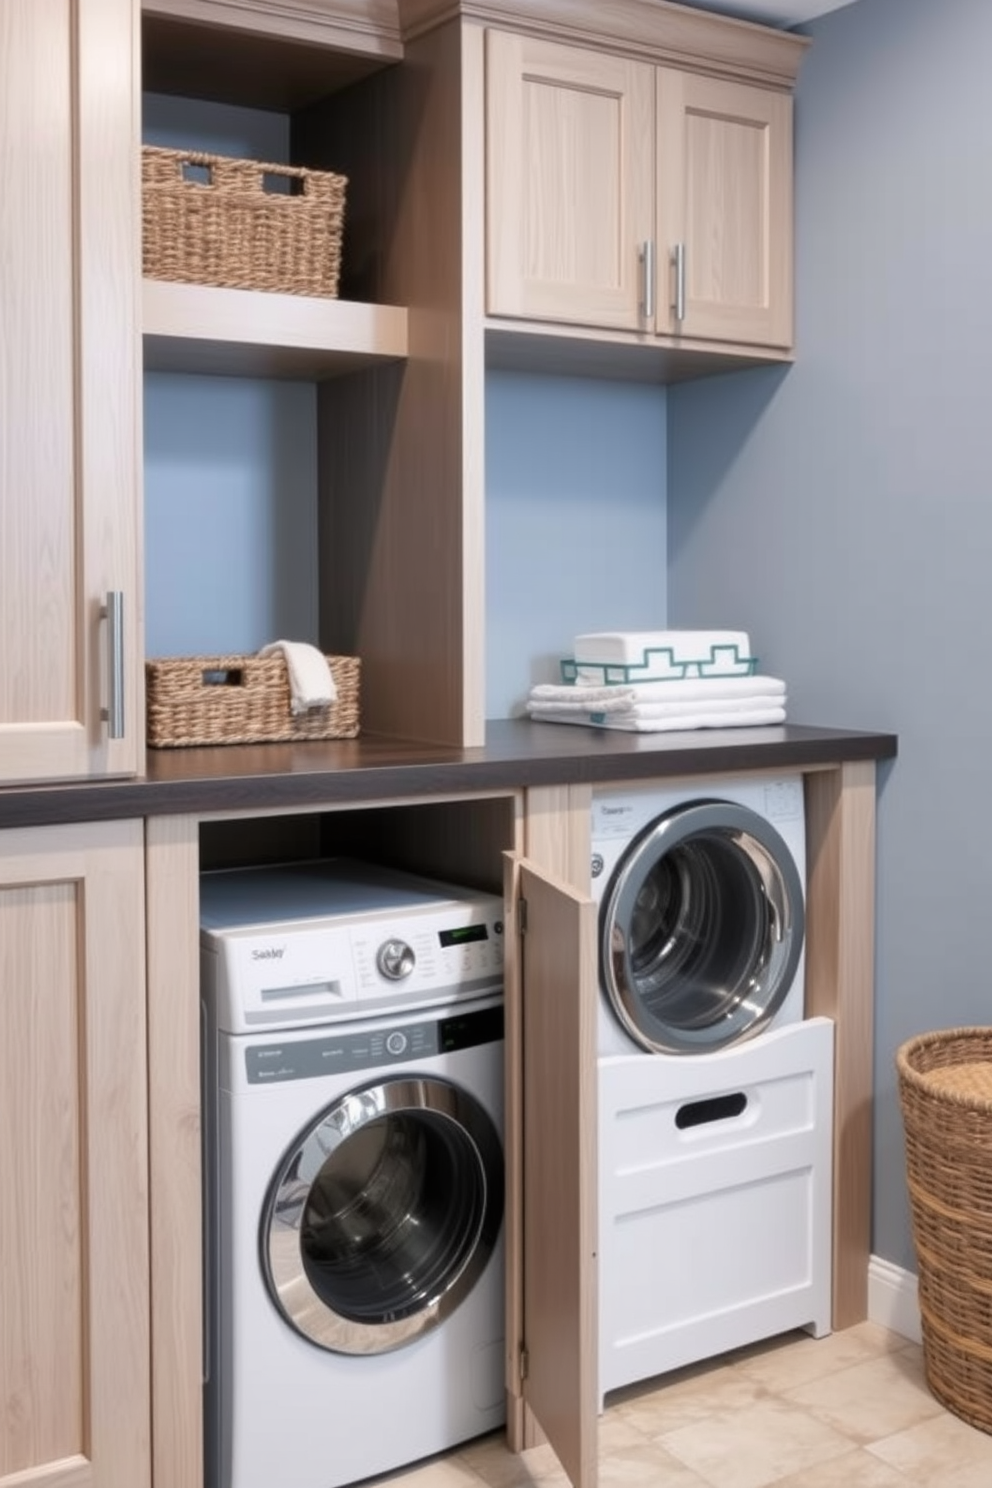
<path id="1" fill-rule="evenodd" d="M 317 390 L 146 375 L 146 652 L 317 641 Z"/>

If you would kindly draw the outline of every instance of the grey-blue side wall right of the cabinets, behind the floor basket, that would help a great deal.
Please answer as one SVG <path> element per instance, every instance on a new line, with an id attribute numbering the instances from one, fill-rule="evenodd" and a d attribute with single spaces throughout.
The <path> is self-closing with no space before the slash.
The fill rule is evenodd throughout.
<path id="1" fill-rule="evenodd" d="M 797 91 L 797 360 L 669 394 L 669 615 L 730 606 L 880 771 L 875 1251 L 913 1268 L 894 1055 L 992 1021 L 992 4 L 860 0 Z"/>

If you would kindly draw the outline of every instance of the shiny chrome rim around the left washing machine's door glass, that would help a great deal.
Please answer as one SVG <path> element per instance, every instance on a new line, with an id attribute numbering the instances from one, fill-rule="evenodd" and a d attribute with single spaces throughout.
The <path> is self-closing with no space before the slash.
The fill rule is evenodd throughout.
<path id="1" fill-rule="evenodd" d="M 418 1298 L 409 1311 L 358 1320 L 335 1311 L 314 1287 L 303 1254 L 305 1214 L 315 1180 L 333 1153 L 370 1123 L 403 1115 L 458 1146 L 473 1165 L 479 1202 L 442 1287 Z M 311 1177 L 300 1177 L 300 1171 L 309 1171 Z M 342 1354 L 390 1353 L 439 1327 L 468 1296 L 489 1262 L 501 1222 L 503 1150 L 497 1128 L 479 1101 L 436 1077 L 384 1079 L 333 1101 L 287 1149 L 262 1213 L 262 1269 L 284 1320 L 311 1342 Z"/>

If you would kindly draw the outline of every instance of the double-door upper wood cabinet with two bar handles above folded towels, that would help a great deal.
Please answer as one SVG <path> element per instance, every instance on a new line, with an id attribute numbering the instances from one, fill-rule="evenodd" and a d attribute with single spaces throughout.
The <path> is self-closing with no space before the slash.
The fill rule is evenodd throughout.
<path id="1" fill-rule="evenodd" d="M 489 30 L 485 89 L 491 317 L 788 351 L 785 88 Z"/>

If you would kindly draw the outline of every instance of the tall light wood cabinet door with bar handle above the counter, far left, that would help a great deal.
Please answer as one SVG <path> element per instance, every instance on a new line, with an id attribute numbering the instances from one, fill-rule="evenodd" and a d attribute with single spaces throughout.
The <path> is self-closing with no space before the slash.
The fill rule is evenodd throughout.
<path id="1" fill-rule="evenodd" d="M 0 783 L 141 760 L 137 22 L 0 6 Z"/>

